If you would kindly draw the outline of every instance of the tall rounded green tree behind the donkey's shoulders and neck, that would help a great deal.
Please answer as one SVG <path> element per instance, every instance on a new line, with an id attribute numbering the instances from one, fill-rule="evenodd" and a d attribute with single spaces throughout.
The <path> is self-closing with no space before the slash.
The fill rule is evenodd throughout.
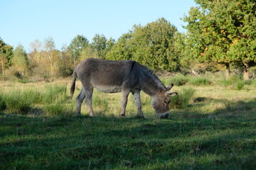
<path id="1" fill-rule="evenodd" d="M 178 66 L 178 58 L 174 53 L 176 31 L 176 27 L 165 18 L 159 18 L 146 26 L 134 26 L 133 60 L 155 70 L 176 70 Z"/>

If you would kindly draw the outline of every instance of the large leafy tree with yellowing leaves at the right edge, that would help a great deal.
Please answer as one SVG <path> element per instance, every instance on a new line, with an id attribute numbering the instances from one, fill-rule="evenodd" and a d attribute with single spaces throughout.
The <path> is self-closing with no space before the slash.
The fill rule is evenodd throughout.
<path id="1" fill-rule="evenodd" d="M 256 62 L 256 4 L 252 0 L 196 0 L 188 22 L 191 52 L 200 62 L 240 64 L 244 78 Z"/>

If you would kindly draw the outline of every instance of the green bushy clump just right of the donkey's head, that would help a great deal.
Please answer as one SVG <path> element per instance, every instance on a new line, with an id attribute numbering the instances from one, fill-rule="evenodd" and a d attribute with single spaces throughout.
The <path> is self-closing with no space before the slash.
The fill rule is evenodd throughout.
<path id="1" fill-rule="evenodd" d="M 171 108 L 187 108 L 189 101 L 191 101 L 193 94 L 196 90 L 194 89 L 181 89 L 178 91 L 178 95 L 171 97 Z"/>

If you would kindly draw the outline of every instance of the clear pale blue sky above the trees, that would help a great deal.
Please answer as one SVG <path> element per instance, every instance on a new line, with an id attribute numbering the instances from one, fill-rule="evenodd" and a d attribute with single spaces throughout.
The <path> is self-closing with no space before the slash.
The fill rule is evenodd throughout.
<path id="1" fill-rule="evenodd" d="M 196 6 L 193 0 L 0 0 L 0 38 L 30 52 L 31 42 L 50 36 L 60 50 L 76 35 L 117 40 L 134 24 L 145 26 L 161 17 L 185 32 L 181 18 L 191 6 Z"/>

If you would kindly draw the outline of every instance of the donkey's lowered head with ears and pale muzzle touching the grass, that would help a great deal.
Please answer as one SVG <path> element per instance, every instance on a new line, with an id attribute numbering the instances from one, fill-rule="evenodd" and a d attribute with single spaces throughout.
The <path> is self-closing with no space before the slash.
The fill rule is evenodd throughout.
<path id="1" fill-rule="evenodd" d="M 166 87 L 165 91 L 161 91 L 161 93 L 152 97 L 151 105 L 160 118 L 169 117 L 169 103 L 171 102 L 170 96 L 175 96 L 178 94 L 176 92 L 169 91 L 173 86 L 174 84 L 171 84 L 171 86 Z"/>

